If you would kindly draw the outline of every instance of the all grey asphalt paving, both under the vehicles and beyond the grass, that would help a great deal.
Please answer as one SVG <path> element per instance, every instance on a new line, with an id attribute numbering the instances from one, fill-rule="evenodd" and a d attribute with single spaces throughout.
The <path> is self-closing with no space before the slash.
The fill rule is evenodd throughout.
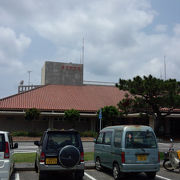
<path id="1" fill-rule="evenodd" d="M 161 152 L 167 151 L 170 143 L 159 143 L 159 149 Z M 85 152 L 93 152 L 94 151 L 94 143 L 93 142 L 83 142 Z M 180 149 L 180 143 L 175 143 L 175 149 Z M 33 142 L 29 143 L 20 143 L 18 148 L 19 152 L 28 152 L 35 151 L 36 146 L 34 146 Z M 18 152 L 17 151 L 17 152 Z M 180 173 L 178 172 L 167 172 L 163 168 L 157 173 L 155 180 L 179 180 Z M 11 180 L 38 180 L 38 174 L 35 171 L 17 171 L 11 177 Z M 58 175 L 49 175 L 46 179 L 56 180 L 56 179 L 66 179 L 73 180 L 73 177 L 69 174 L 58 174 Z M 125 178 L 126 180 L 147 180 L 145 174 L 139 175 L 129 175 Z M 105 170 L 102 172 L 96 171 L 95 169 L 85 170 L 85 175 L 83 180 L 113 180 L 111 171 Z"/>

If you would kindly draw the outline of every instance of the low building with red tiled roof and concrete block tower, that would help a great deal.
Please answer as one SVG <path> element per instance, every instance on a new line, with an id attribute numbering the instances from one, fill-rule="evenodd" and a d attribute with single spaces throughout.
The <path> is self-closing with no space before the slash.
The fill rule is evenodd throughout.
<path id="1" fill-rule="evenodd" d="M 64 120 L 64 111 L 76 109 L 80 118 L 75 129 L 79 131 L 98 131 L 97 111 L 104 106 L 117 106 L 125 92 L 115 85 L 85 84 L 83 65 L 62 62 L 45 62 L 42 68 L 41 85 L 21 84 L 18 94 L 0 99 L 1 130 L 7 131 L 44 131 L 47 128 L 69 129 L 72 125 Z M 29 122 L 25 111 L 38 109 L 40 118 Z M 154 127 L 150 118 L 142 121 L 131 114 L 126 124 L 145 124 Z M 180 133 L 180 112 L 166 118 L 167 134 Z M 119 120 L 117 124 L 124 123 Z M 180 136 L 180 134 L 179 134 Z"/>

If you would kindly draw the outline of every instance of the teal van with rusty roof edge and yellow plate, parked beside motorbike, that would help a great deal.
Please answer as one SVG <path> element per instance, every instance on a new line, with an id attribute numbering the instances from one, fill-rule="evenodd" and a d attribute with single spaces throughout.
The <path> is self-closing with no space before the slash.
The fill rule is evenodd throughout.
<path id="1" fill-rule="evenodd" d="M 141 172 L 154 179 L 160 168 L 155 133 L 141 125 L 106 127 L 95 140 L 94 160 L 97 170 L 111 169 L 115 180 L 126 173 Z"/>

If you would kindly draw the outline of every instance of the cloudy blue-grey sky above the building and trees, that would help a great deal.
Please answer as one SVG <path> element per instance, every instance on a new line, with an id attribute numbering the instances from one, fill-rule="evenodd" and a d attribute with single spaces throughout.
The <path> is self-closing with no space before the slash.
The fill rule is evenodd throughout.
<path id="1" fill-rule="evenodd" d="M 0 0 L 0 98 L 40 84 L 45 61 L 80 63 L 84 80 L 152 74 L 180 81 L 180 0 Z"/>

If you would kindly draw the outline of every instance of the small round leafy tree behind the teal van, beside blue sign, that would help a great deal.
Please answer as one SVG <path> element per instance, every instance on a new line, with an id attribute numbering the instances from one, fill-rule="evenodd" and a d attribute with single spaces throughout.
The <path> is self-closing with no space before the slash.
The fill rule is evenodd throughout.
<path id="1" fill-rule="evenodd" d="M 99 116 L 98 111 L 98 116 Z M 103 127 L 114 125 L 114 121 L 118 118 L 119 111 L 115 106 L 105 106 L 102 108 Z"/>

